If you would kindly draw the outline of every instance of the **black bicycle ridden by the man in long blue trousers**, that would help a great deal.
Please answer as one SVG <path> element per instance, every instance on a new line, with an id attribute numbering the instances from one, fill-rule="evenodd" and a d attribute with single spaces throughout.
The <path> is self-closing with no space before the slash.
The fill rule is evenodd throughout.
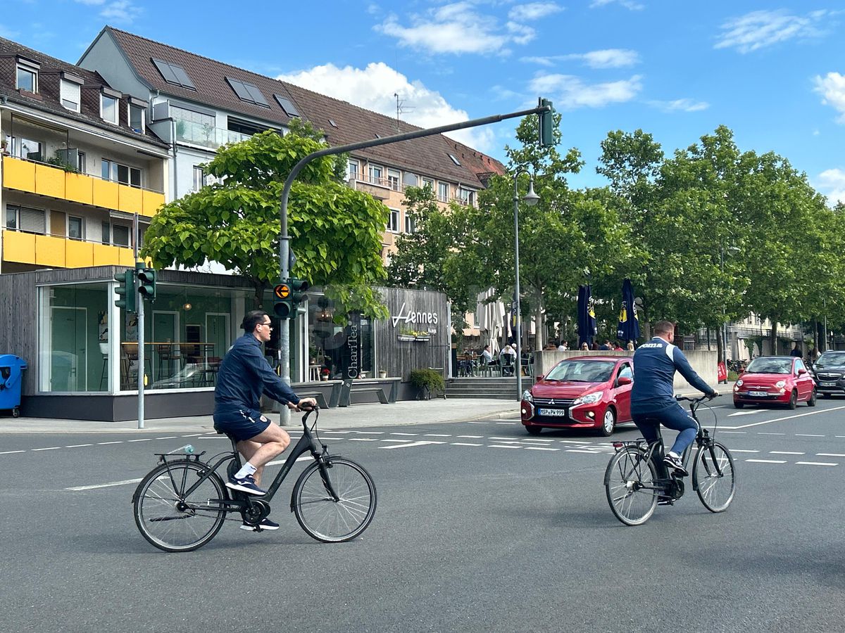
<path id="1" fill-rule="evenodd" d="M 723 512 L 731 505 L 736 493 L 736 472 L 728 448 L 713 439 L 716 428 L 711 436 L 699 423 L 696 411 L 706 398 L 677 398 L 690 403 L 690 415 L 698 423 L 695 448 L 687 446 L 683 463 L 684 468 L 689 470 L 690 456 L 695 451 L 693 490 L 707 510 Z M 604 472 L 604 487 L 610 509 L 625 525 L 641 525 L 648 521 L 659 499 L 671 504 L 684 495 L 683 476 L 669 473 L 663 464 L 663 438 L 659 425 L 657 436 L 657 441 L 651 444 L 643 438 L 613 442 L 616 452 Z"/>

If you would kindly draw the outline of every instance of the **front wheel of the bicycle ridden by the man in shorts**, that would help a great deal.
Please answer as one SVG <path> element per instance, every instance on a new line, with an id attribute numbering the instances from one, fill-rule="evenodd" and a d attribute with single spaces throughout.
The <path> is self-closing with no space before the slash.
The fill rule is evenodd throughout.
<path id="1" fill-rule="evenodd" d="M 291 499 L 299 525 L 324 543 L 342 543 L 363 533 L 373 520 L 375 504 L 373 478 L 363 466 L 343 457 L 329 457 L 326 463 L 306 468 Z"/>

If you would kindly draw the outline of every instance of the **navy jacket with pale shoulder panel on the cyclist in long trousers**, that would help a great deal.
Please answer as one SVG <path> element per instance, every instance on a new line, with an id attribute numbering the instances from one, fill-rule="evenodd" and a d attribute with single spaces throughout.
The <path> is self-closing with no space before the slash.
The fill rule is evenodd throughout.
<path id="1" fill-rule="evenodd" d="M 675 371 L 704 393 L 713 389 L 690 367 L 684 352 L 656 336 L 634 352 L 634 386 L 631 387 L 631 413 L 650 414 L 677 401 L 672 387 Z"/>

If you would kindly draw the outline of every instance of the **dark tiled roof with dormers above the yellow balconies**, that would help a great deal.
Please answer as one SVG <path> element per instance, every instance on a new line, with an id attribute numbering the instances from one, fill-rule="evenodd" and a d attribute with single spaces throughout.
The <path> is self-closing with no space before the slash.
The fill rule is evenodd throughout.
<path id="1" fill-rule="evenodd" d="M 42 89 L 39 90 L 39 94 L 37 96 L 30 96 L 28 93 L 21 93 L 19 90 L 15 89 L 14 83 L 4 85 L 2 82 L 0 82 L 0 95 L 6 96 L 9 101 L 34 108 L 35 110 L 46 111 L 52 114 L 63 116 L 68 119 L 72 119 L 74 121 L 87 123 L 91 126 L 99 127 L 103 130 L 107 130 L 108 132 L 119 134 L 124 137 L 140 139 L 148 143 L 154 143 L 155 145 L 158 145 L 162 148 L 168 147 L 167 144 L 162 142 L 161 139 L 159 139 L 158 137 L 156 137 L 155 133 L 152 133 L 150 129 L 147 129 L 146 133 L 144 134 L 139 134 L 137 132 L 134 132 L 128 126 L 116 126 L 111 123 L 104 122 L 99 116 L 99 112 L 97 112 L 97 116 L 94 116 L 92 114 L 87 113 L 85 111 L 85 107 L 82 108 L 81 112 L 74 112 L 72 110 L 68 110 L 68 108 L 63 107 L 62 104 L 58 101 L 58 94 L 56 90 L 52 91 L 55 92 L 55 94 L 51 94 L 45 89 L 43 89 L 47 85 L 47 82 L 44 81 L 44 79 L 47 77 L 48 73 L 59 72 L 72 73 L 77 77 L 82 78 L 85 81 L 85 84 L 83 84 L 84 90 L 85 88 L 99 88 L 101 86 L 111 88 L 111 86 L 106 83 L 106 80 L 102 78 L 99 73 L 86 70 L 85 68 L 81 68 L 79 66 L 74 66 L 74 64 L 63 62 L 61 59 L 57 59 L 56 57 L 50 57 L 49 55 L 45 55 L 40 51 L 35 51 L 34 49 L 29 48 L 28 46 L 23 46 L 22 44 L 18 44 L 17 42 L 6 40 L 0 37 L 0 58 L 11 59 L 12 57 L 16 56 L 26 57 L 27 59 L 30 59 L 33 62 L 38 62 L 39 64 L 41 64 L 39 74 L 41 76 L 40 83 Z M 81 96 L 83 99 L 83 105 L 85 105 L 85 95 Z"/>

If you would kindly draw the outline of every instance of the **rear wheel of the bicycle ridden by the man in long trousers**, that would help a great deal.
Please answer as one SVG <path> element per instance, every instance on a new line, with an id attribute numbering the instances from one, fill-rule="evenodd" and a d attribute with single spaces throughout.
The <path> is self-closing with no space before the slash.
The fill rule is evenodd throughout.
<path id="1" fill-rule="evenodd" d="M 641 525 L 657 507 L 657 470 L 646 454 L 626 448 L 610 458 L 604 489 L 610 509 L 625 525 Z"/>

